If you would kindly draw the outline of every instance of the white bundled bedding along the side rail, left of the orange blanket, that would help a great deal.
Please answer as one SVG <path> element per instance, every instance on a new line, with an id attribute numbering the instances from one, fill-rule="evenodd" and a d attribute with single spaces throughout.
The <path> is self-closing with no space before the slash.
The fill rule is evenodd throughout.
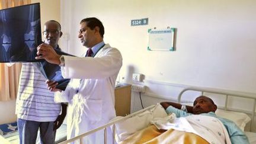
<path id="1" fill-rule="evenodd" d="M 116 141 L 121 142 L 138 130 L 144 129 L 149 126 L 150 121 L 155 117 L 166 117 L 168 116 L 165 109 L 161 104 L 156 104 L 151 110 L 144 111 L 143 113 L 137 114 L 136 116 L 130 117 L 124 121 L 116 123 Z M 116 117 L 113 120 L 121 119 L 123 117 Z M 111 120 L 111 121 L 113 121 Z"/>

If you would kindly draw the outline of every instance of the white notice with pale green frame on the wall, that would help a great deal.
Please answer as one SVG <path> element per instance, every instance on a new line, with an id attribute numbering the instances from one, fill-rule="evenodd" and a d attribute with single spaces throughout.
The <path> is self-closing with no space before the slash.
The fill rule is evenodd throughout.
<path id="1" fill-rule="evenodd" d="M 148 50 L 174 51 L 175 28 L 149 29 Z"/>

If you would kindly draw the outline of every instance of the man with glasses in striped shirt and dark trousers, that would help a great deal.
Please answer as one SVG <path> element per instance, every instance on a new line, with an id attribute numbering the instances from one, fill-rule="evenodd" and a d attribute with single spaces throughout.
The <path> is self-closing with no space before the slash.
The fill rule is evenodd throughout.
<path id="1" fill-rule="evenodd" d="M 44 43 L 59 50 L 61 26 L 51 20 L 44 24 Z M 54 101 L 54 92 L 47 89 L 46 78 L 33 63 L 23 63 L 16 102 L 20 143 L 36 143 L 40 129 L 41 143 L 55 143 L 56 129 L 66 116 L 66 105 Z M 60 114 L 62 105 L 62 114 Z"/>

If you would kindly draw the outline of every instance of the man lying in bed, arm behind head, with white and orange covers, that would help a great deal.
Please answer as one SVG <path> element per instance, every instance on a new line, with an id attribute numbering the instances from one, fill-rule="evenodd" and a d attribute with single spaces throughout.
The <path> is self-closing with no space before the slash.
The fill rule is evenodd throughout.
<path id="1" fill-rule="evenodd" d="M 149 126 L 122 143 L 249 143 L 235 123 L 216 116 L 217 106 L 208 97 L 197 97 L 193 107 L 171 102 L 161 105 L 177 118 L 155 121 L 158 128 Z"/>

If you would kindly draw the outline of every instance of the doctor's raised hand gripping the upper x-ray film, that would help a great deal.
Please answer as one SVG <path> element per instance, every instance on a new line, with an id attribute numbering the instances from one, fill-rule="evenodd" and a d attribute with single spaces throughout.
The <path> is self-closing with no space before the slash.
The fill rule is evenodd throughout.
<path id="1" fill-rule="evenodd" d="M 52 46 L 42 43 L 37 47 L 36 59 L 45 59 L 49 63 L 60 65 L 60 55 L 57 55 Z"/>

